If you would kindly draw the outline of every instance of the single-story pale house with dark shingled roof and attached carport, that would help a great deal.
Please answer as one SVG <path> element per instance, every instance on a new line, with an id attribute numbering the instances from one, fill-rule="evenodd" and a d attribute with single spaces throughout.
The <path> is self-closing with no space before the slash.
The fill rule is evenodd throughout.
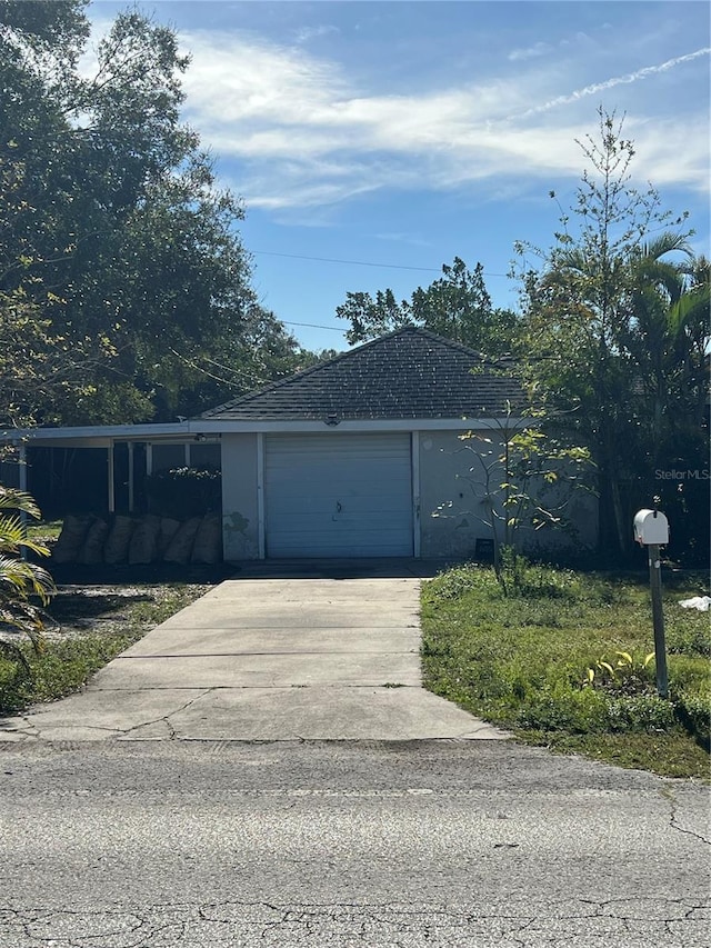
<path id="1" fill-rule="evenodd" d="M 228 561 L 467 557 L 491 528 L 471 490 L 481 470 L 460 436 L 495 443 L 521 403 L 500 366 L 408 327 L 199 418 L 23 432 L 24 485 L 41 475 L 38 449 L 93 450 L 108 459 L 109 509 L 131 511 L 144 472 L 209 458 L 222 471 Z M 578 519 L 592 543 L 594 512 L 583 506 Z"/>

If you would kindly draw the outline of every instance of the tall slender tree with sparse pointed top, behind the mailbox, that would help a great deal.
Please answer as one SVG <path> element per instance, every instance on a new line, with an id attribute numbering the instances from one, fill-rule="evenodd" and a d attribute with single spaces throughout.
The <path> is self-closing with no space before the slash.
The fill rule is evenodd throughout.
<path id="1" fill-rule="evenodd" d="M 529 382 L 551 408 L 564 410 L 570 437 L 590 448 L 601 537 L 612 553 L 621 553 L 631 546 L 631 508 L 652 502 L 641 489 L 649 482 L 644 473 L 654 458 L 661 460 L 658 448 L 683 400 L 679 385 L 662 391 L 689 359 L 699 382 L 704 333 L 695 321 L 699 309 L 681 303 L 689 321 L 678 315 L 689 233 L 669 228 L 683 228 L 687 214 L 663 211 L 651 186 L 632 187 L 634 147 L 622 137 L 623 122 L 602 109 L 599 118 L 599 138 L 579 142 L 590 168 L 572 216 L 561 211 L 552 249 L 517 246 L 525 327 L 521 355 Z M 573 221 L 580 226 L 571 233 Z M 529 267 L 531 252 L 542 261 L 540 269 Z M 699 397 L 697 390 L 693 398 Z"/>

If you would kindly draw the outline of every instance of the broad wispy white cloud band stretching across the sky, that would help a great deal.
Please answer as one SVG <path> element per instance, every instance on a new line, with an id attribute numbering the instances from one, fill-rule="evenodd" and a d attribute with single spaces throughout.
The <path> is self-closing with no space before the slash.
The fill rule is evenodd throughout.
<path id="1" fill-rule="evenodd" d="M 584 159 L 575 138 L 594 127 L 592 97 L 709 52 L 580 88 L 571 83 L 572 92 L 558 91 L 564 76 L 537 66 L 527 74 L 394 96 L 361 88 L 342 66 L 301 47 L 253 34 L 196 32 L 182 43 L 193 54 L 184 82 L 189 121 L 223 159 L 240 161 L 237 190 L 248 206 L 269 209 L 324 207 L 385 187 L 579 176 Z M 644 173 L 660 184 L 708 188 L 708 142 L 683 131 L 693 116 L 645 123 L 641 108 L 633 114 Z M 708 116 L 697 121 L 705 127 Z"/>

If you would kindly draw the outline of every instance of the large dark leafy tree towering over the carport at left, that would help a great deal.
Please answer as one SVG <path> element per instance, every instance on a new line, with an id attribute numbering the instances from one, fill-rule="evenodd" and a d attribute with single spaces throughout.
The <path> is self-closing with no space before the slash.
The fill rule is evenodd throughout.
<path id="1" fill-rule="evenodd" d="M 119 14 L 87 78 L 84 7 L 0 0 L 0 326 L 37 320 L 28 376 L 68 357 L 3 423 L 172 419 L 299 361 L 250 285 L 241 202 L 180 120 L 174 32 Z"/>

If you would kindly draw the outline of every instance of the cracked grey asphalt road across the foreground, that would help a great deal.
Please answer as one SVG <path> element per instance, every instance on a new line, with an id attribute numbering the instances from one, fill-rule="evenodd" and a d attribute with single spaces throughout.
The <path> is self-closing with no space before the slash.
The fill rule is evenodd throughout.
<path id="1" fill-rule="evenodd" d="M 502 741 L 0 745 L 2 948 L 707 948 L 709 794 Z"/>

